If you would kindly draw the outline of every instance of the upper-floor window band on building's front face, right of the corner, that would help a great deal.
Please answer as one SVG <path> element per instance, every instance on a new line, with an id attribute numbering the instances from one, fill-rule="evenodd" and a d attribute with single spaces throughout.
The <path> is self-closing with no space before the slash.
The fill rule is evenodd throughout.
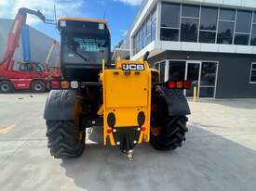
<path id="1" fill-rule="evenodd" d="M 160 40 L 256 46 L 256 12 L 162 3 Z"/>

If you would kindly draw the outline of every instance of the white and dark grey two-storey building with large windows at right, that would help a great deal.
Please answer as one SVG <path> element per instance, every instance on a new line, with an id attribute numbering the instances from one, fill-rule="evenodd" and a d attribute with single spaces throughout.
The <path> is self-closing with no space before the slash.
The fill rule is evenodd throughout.
<path id="1" fill-rule="evenodd" d="M 189 80 L 199 97 L 256 97 L 256 1 L 145 0 L 114 58 L 146 51 L 162 81 Z"/>

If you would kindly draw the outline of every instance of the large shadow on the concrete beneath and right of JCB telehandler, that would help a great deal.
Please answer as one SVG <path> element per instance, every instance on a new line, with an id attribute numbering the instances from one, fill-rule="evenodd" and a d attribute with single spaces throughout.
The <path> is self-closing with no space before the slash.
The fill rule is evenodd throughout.
<path id="1" fill-rule="evenodd" d="M 195 131 L 185 145 L 174 151 L 159 152 L 144 144 L 128 162 L 116 147 L 91 144 L 81 158 L 62 160 L 61 167 L 81 190 L 255 189 L 254 150 L 198 126 L 191 128 Z"/>

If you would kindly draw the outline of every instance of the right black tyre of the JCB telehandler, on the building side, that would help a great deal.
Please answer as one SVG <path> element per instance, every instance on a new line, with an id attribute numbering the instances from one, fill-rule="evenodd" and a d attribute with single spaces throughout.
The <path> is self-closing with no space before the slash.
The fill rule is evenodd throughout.
<path id="1" fill-rule="evenodd" d="M 185 141 L 187 118 L 185 116 L 167 117 L 163 120 L 160 132 L 151 130 L 150 142 L 157 150 L 170 150 L 182 146 Z"/>

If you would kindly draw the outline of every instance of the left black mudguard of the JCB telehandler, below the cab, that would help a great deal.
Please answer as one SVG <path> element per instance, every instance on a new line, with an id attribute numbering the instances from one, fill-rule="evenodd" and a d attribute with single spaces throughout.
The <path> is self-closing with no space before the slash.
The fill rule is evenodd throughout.
<path id="1" fill-rule="evenodd" d="M 47 97 L 45 120 L 74 120 L 75 96 L 75 90 L 51 90 Z"/>

